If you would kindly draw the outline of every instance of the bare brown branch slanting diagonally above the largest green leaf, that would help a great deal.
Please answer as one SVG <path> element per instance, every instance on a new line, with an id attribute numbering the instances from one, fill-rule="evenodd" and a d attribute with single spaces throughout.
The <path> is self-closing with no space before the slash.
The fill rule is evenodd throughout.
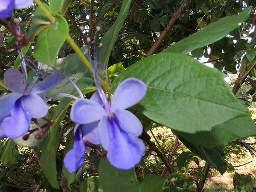
<path id="1" fill-rule="evenodd" d="M 161 46 L 164 38 L 172 31 L 173 26 L 175 25 L 176 21 L 178 20 L 181 11 L 186 6 L 186 3 L 184 3 L 180 8 L 177 10 L 177 12 L 174 13 L 172 19 L 170 20 L 169 24 L 166 26 L 166 28 L 163 30 L 157 41 L 154 43 L 154 45 L 151 47 L 151 49 L 148 51 L 147 56 L 153 55 L 157 49 Z"/>

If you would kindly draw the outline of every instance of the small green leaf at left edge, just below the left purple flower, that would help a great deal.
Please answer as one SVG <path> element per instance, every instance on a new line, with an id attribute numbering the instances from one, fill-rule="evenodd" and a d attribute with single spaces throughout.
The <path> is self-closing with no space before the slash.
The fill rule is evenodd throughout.
<path id="1" fill-rule="evenodd" d="M 17 163 L 17 158 L 19 157 L 19 152 L 15 147 L 15 143 L 9 139 L 6 141 L 5 147 L 2 152 L 1 163 L 3 165 L 12 166 Z"/>

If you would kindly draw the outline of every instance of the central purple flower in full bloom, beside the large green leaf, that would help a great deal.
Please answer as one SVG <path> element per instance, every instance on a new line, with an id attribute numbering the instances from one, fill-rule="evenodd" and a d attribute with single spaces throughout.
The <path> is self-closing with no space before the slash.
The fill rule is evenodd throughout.
<path id="1" fill-rule="evenodd" d="M 89 142 L 99 140 L 102 147 L 108 151 L 107 158 L 113 166 L 118 169 L 131 169 L 140 163 L 145 145 L 139 138 L 143 131 L 140 120 L 125 109 L 139 102 L 145 96 L 147 87 L 139 79 L 126 79 L 116 88 L 111 106 L 106 102 L 107 99 L 101 87 L 99 85 L 97 87 L 99 91 L 96 92 L 94 99 L 77 99 L 74 102 L 70 118 L 73 122 L 86 126 L 88 133 L 90 130 L 98 130 L 99 138 L 97 134 L 87 134 L 84 138 Z M 98 102 L 95 102 L 96 100 Z M 80 155 L 77 152 L 73 158 L 81 157 Z M 72 162 L 70 158 L 67 163 Z"/>

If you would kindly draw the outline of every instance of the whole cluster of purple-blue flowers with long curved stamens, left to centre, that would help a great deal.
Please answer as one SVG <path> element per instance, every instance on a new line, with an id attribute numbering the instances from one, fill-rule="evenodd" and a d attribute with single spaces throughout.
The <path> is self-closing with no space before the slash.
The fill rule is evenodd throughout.
<path id="1" fill-rule="evenodd" d="M 97 52 L 97 49 L 96 51 Z M 70 119 L 76 123 L 74 128 L 75 141 L 73 149 L 65 158 L 64 164 L 69 172 L 75 172 L 84 163 L 84 152 L 90 152 L 91 147 L 101 144 L 107 151 L 103 155 L 118 169 L 131 169 L 140 163 L 145 145 L 139 138 L 143 126 L 140 120 L 127 109 L 140 102 L 146 94 L 147 86 L 136 78 L 128 78 L 122 81 L 109 98 L 101 87 L 98 68 L 100 64 L 95 57 L 94 62 L 90 59 L 93 70 L 93 78 L 98 91 L 93 93 L 90 99 L 84 99 L 79 87 L 66 75 L 52 68 L 42 70 L 42 64 L 38 63 L 37 69 L 33 69 L 25 60 L 29 60 L 19 52 L 22 74 L 9 68 L 4 73 L 4 82 L 12 93 L 0 98 L 0 138 L 11 139 L 23 136 L 28 139 L 32 130 L 29 130 L 30 122 L 33 120 L 41 131 L 41 136 L 54 121 L 46 119 L 48 113 L 47 101 L 49 98 L 67 96 L 75 99 L 70 111 Z M 89 54 L 90 55 L 90 54 Z M 31 60 L 29 60 L 36 66 Z M 30 67 L 35 76 L 29 83 L 26 67 Z M 106 70 L 103 69 L 106 75 Z M 51 75 L 46 76 L 46 74 Z M 58 93 L 46 99 L 46 91 L 58 85 L 61 76 L 66 78 L 79 93 L 80 98 L 67 93 Z M 44 118 L 49 123 L 48 129 L 43 130 L 38 124 L 37 118 Z M 26 134 L 29 132 L 29 134 Z M 41 137 L 36 137 L 40 139 Z"/>

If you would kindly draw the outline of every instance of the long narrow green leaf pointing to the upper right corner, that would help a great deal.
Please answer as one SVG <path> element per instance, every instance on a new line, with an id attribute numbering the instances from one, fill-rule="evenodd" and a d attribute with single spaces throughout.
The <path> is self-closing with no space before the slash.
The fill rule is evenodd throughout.
<path id="1" fill-rule="evenodd" d="M 244 9 L 239 15 L 227 16 L 210 23 L 200 31 L 190 35 L 189 37 L 177 42 L 163 50 L 163 52 L 180 52 L 188 54 L 190 51 L 199 47 L 212 44 L 227 36 L 234 29 L 239 27 L 239 23 L 243 22 L 250 15 L 251 7 Z"/>

